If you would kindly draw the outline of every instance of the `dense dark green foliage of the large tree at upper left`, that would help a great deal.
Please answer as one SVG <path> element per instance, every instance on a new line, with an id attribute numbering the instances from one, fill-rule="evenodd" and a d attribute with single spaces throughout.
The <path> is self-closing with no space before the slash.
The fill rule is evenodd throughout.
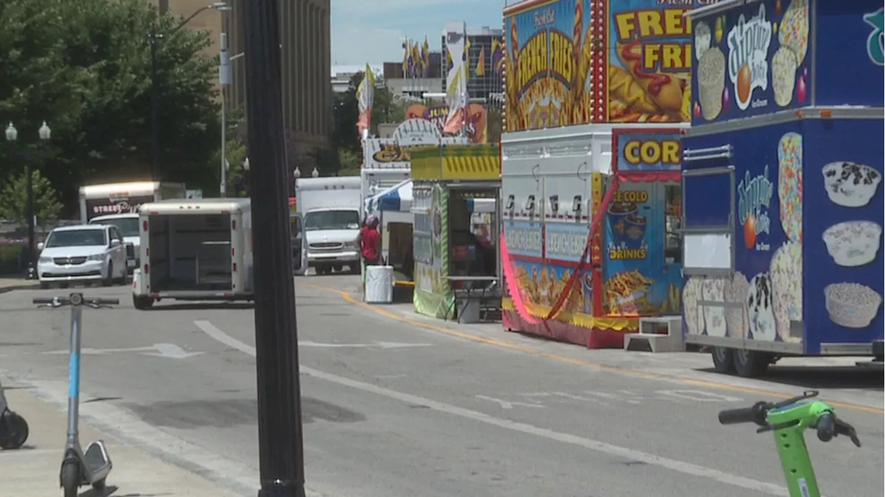
<path id="1" fill-rule="evenodd" d="M 162 180 L 205 180 L 219 149 L 208 34 L 143 0 L 0 0 L 0 118 L 74 208 L 86 181 L 150 178 L 150 38 L 158 41 Z M 45 120 L 49 145 L 37 143 Z M 9 157 L 7 155 L 7 157 Z M 0 163 L 0 176 L 20 161 Z M 216 181 L 216 184 L 217 181 Z M 216 187 L 217 189 L 217 187 Z"/>

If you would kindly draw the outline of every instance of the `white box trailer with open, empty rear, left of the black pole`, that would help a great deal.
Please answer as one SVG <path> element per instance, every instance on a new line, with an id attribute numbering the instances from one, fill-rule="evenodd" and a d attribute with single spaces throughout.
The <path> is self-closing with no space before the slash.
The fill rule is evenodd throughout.
<path id="1" fill-rule="evenodd" d="M 253 299 L 250 199 L 164 200 L 143 204 L 138 214 L 135 309 L 162 299 Z"/>

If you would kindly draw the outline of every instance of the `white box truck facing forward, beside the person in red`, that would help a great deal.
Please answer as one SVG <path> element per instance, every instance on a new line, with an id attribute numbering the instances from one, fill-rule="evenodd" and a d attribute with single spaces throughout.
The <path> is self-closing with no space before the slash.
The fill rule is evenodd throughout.
<path id="1" fill-rule="evenodd" d="M 296 200 L 304 218 L 307 265 L 317 274 L 341 271 L 343 266 L 359 272 L 361 188 L 359 176 L 298 180 Z"/>

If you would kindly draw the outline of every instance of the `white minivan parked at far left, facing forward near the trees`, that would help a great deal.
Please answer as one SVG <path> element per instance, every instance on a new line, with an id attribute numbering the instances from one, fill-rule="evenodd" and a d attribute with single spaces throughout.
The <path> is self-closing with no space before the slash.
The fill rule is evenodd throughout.
<path id="1" fill-rule="evenodd" d="M 126 284 L 126 248 L 123 235 L 113 225 L 81 225 L 55 228 L 38 243 L 37 274 L 41 288 L 56 283 L 101 281 L 104 286 Z"/>

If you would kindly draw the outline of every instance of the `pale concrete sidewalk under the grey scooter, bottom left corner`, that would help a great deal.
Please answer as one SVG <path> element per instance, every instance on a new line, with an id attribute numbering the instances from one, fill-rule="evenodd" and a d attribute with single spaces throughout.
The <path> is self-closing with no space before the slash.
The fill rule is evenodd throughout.
<path id="1" fill-rule="evenodd" d="M 61 467 L 62 449 L 65 446 L 65 413 L 43 403 L 25 390 L 7 390 L 10 407 L 24 416 L 30 426 L 30 436 L 25 447 L 19 450 L 0 450 L 0 467 L 3 468 L 4 495 L 19 497 L 46 497 L 61 495 L 58 471 Z M 108 475 L 105 493 L 95 493 L 89 487 L 81 487 L 82 497 L 100 495 L 164 495 L 168 497 L 233 497 L 213 486 L 204 478 L 162 463 L 150 455 L 127 447 L 111 437 L 81 424 L 81 443 L 104 440 L 111 455 L 113 470 Z"/>

